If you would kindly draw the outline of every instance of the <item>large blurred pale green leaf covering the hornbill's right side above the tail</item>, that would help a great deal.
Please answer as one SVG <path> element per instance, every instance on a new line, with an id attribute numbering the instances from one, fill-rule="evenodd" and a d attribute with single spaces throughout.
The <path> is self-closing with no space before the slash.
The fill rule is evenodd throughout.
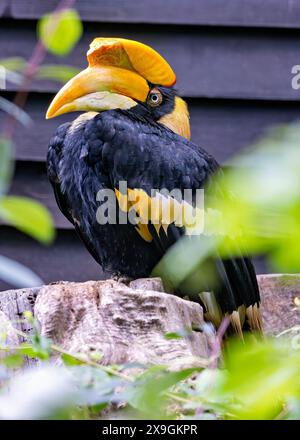
<path id="1" fill-rule="evenodd" d="M 205 284 L 216 255 L 240 253 L 264 254 L 275 271 L 299 272 L 299 144 L 300 123 L 280 126 L 228 164 L 205 190 L 204 233 L 179 240 L 154 275 L 199 292 L 199 265 L 207 264 Z"/>

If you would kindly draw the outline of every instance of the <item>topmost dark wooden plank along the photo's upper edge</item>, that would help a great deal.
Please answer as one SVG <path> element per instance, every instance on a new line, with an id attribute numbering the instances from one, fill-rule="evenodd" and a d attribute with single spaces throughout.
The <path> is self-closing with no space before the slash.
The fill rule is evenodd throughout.
<path id="1" fill-rule="evenodd" d="M 57 3 L 11 0 L 11 14 L 38 18 Z M 75 6 L 85 21 L 300 27 L 300 3 L 290 0 L 77 0 Z"/>

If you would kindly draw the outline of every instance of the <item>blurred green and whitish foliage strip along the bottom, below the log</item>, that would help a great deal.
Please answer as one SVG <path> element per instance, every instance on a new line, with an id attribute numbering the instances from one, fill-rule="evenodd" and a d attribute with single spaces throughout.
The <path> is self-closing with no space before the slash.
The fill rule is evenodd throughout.
<path id="1" fill-rule="evenodd" d="M 208 368 L 174 371 L 100 365 L 94 353 L 72 354 L 41 336 L 30 313 L 27 320 L 33 332 L 25 343 L 8 346 L 3 328 L 0 334 L 0 419 L 114 418 L 116 412 L 125 419 L 300 418 L 300 350 L 290 338 L 232 339 L 222 368 L 212 358 Z M 63 365 L 50 365 L 52 355 Z M 42 364 L 15 376 L 27 357 Z"/>

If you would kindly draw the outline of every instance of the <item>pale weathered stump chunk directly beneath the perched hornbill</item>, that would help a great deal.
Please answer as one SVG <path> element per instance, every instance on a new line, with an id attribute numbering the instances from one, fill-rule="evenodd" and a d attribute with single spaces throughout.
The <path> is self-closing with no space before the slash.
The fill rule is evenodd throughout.
<path id="1" fill-rule="evenodd" d="M 105 364 L 172 364 L 208 356 L 203 333 L 193 332 L 187 340 L 164 337 L 200 327 L 203 314 L 199 305 L 163 293 L 160 280 L 135 281 L 131 287 L 112 280 L 44 287 L 35 316 L 56 344 L 72 353 L 99 351 Z"/>

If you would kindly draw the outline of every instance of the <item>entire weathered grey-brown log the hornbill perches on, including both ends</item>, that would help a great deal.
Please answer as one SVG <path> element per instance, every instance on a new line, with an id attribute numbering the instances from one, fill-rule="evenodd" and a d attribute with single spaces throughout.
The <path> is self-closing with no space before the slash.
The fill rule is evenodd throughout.
<path id="1" fill-rule="evenodd" d="M 258 281 L 265 332 L 278 334 L 299 325 L 294 300 L 300 295 L 300 276 L 261 275 Z M 210 354 L 206 332 L 165 338 L 165 333 L 186 327 L 201 329 L 204 321 L 199 304 L 164 293 L 159 279 L 135 280 L 129 286 L 113 280 L 60 282 L 0 293 L 0 327 L 8 319 L 30 332 L 19 321 L 25 310 L 34 313 L 42 333 L 54 343 L 72 353 L 101 352 L 105 364 L 188 364 L 191 357 Z M 8 339 L 12 345 L 18 342 L 11 327 Z"/>

